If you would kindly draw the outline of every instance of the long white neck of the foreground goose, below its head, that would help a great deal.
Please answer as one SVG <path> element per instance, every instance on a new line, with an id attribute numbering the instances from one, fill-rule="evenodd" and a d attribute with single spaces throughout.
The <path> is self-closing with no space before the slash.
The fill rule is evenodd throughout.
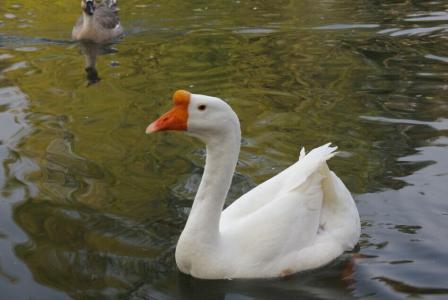
<path id="1" fill-rule="evenodd" d="M 224 135 L 207 138 L 204 174 L 184 229 L 206 243 L 219 238 L 221 212 L 238 161 L 241 133 L 239 124 L 234 125 Z"/>

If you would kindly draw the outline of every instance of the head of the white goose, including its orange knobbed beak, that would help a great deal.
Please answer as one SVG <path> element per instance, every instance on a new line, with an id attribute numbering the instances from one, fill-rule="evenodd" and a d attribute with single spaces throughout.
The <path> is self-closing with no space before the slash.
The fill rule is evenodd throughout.
<path id="1" fill-rule="evenodd" d="M 239 125 L 237 115 L 223 100 L 179 90 L 173 95 L 173 108 L 152 122 L 146 133 L 185 131 L 208 143 L 235 131 L 239 136 Z"/>

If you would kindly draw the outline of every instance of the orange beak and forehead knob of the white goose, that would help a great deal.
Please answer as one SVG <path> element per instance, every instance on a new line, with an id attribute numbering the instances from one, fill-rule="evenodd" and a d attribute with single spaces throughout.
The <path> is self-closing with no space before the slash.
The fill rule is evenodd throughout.
<path id="1" fill-rule="evenodd" d="M 191 94 L 179 90 L 173 95 L 174 107 L 146 128 L 146 134 L 165 130 L 187 130 L 188 105 Z"/>

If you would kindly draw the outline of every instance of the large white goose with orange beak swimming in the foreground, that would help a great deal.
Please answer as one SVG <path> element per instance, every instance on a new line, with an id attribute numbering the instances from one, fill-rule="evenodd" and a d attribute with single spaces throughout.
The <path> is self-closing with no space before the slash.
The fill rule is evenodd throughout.
<path id="1" fill-rule="evenodd" d="M 205 143 L 205 167 L 178 239 L 178 269 L 200 279 L 285 277 L 323 267 L 360 236 L 356 204 L 327 160 L 330 143 L 256 186 L 225 209 L 241 146 L 240 122 L 222 99 L 185 90 L 146 134 L 180 131 Z"/>

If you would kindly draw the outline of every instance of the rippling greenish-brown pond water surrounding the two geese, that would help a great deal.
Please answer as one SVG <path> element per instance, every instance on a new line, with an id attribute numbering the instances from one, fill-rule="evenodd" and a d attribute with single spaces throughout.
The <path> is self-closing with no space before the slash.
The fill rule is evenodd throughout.
<path id="1" fill-rule="evenodd" d="M 78 13 L 0 7 L 2 299 L 448 297 L 446 1 L 122 1 L 127 36 L 87 50 L 69 40 Z M 229 203 L 299 146 L 338 145 L 356 249 L 277 280 L 179 274 L 204 151 L 144 129 L 180 88 L 241 119 Z"/>

